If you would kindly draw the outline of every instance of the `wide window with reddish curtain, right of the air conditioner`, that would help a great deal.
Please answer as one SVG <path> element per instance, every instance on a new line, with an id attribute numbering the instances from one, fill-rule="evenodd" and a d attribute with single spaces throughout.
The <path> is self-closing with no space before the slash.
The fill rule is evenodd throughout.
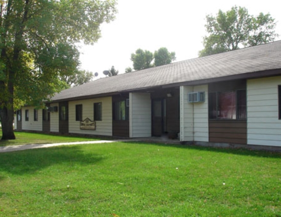
<path id="1" fill-rule="evenodd" d="M 209 93 L 209 119 L 246 118 L 246 90 Z"/>

